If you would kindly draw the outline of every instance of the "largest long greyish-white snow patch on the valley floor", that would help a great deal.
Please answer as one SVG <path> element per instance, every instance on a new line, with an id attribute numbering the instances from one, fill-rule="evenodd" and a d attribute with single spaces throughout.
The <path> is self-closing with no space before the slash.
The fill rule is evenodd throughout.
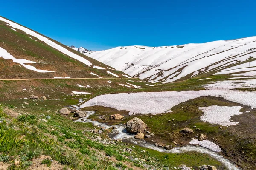
<path id="1" fill-rule="evenodd" d="M 129 114 L 159 114 L 175 105 L 200 96 L 221 96 L 226 100 L 256 108 L 256 93 L 236 90 L 164 91 L 119 93 L 96 96 L 80 107 L 100 105 L 129 111 Z"/>

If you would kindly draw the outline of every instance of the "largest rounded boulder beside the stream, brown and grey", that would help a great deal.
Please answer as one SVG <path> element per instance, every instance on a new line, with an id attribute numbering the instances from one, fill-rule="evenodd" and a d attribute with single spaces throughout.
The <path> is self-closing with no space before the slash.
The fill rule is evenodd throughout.
<path id="1" fill-rule="evenodd" d="M 126 130 L 128 133 L 140 133 L 144 132 L 147 125 L 139 118 L 134 117 L 126 123 Z"/>

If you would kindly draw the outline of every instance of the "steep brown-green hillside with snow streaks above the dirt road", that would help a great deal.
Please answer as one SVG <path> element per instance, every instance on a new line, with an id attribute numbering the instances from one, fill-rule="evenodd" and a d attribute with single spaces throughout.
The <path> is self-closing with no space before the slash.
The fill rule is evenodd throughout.
<path id="1" fill-rule="evenodd" d="M 0 78 L 125 77 L 123 75 L 66 45 L 0 17 Z"/>

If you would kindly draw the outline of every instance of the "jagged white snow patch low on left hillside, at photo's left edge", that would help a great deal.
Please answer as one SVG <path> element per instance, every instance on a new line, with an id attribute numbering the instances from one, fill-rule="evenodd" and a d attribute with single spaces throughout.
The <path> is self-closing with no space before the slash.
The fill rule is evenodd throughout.
<path id="1" fill-rule="evenodd" d="M 36 71 L 36 72 L 39 72 L 39 73 L 53 72 L 53 71 L 48 71 L 48 70 L 39 70 L 39 69 L 36 69 L 32 65 L 26 65 L 25 63 L 36 63 L 36 62 L 29 61 L 29 60 L 26 60 L 26 59 L 16 59 L 15 57 L 13 57 L 10 53 L 8 53 L 5 49 L 3 49 L 1 47 L 0 47 L 0 57 L 2 57 L 3 59 L 12 59 L 13 62 L 19 63 L 20 65 L 22 65 L 26 69 L 33 70 L 33 71 Z"/>

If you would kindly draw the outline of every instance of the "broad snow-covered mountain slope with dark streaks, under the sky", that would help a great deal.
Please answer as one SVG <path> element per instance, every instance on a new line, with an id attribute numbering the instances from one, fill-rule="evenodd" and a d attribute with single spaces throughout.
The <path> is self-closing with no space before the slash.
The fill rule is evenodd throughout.
<path id="1" fill-rule="evenodd" d="M 256 37 L 162 47 L 125 46 L 89 57 L 148 82 L 173 82 L 202 74 L 241 72 L 256 59 Z M 250 71 L 256 70 L 250 63 Z M 237 70 L 237 71 L 236 71 Z"/>

